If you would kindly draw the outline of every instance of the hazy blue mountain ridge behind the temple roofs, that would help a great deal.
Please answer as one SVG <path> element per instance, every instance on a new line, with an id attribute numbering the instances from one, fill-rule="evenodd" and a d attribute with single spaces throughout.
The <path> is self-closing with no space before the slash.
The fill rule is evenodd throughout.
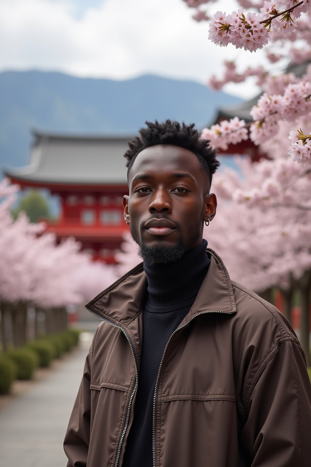
<path id="1" fill-rule="evenodd" d="M 42 71 L 0 73 L 0 170 L 27 165 L 30 129 L 135 134 L 145 120 L 210 124 L 217 109 L 241 99 L 193 81 L 146 75 L 124 81 Z"/>

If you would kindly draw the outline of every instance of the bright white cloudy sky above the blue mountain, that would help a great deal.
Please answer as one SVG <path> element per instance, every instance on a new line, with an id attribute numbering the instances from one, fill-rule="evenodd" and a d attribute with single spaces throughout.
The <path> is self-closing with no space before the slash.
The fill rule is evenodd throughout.
<path id="1" fill-rule="evenodd" d="M 212 4 L 235 8 L 235 0 Z M 208 41 L 182 0 L 0 0 L 0 71 L 39 69 L 80 77 L 126 79 L 152 73 L 206 83 L 222 61 L 241 70 L 256 55 Z M 227 85 L 245 98 L 254 85 Z"/>

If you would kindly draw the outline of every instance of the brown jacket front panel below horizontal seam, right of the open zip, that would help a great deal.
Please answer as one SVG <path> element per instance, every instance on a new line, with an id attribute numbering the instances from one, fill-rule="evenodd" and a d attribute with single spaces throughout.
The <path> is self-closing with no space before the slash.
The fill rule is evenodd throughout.
<path id="1" fill-rule="evenodd" d="M 159 466 L 237 467 L 236 427 L 236 404 L 232 394 L 161 397 L 156 430 Z"/>

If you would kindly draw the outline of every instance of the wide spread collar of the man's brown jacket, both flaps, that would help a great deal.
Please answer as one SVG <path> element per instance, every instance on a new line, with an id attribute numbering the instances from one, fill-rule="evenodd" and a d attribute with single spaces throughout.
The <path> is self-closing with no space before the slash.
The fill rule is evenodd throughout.
<path id="1" fill-rule="evenodd" d="M 221 258 L 210 248 L 207 275 L 200 287 L 183 325 L 202 312 L 235 313 L 236 304 L 232 284 Z M 147 276 L 143 263 L 138 264 L 110 287 L 85 304 L 86 308 L 117 325 L 126 326 L 143 309 L 147 292 Z"/>

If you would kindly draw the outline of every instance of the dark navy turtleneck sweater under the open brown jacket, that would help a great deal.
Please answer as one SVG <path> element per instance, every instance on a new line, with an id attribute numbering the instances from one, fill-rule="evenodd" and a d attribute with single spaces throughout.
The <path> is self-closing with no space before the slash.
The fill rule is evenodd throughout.
<path id="1" fill-rule="evenodd" d="M 153 394 L 162 355 L 171 334 L 190 311 L 210 260 L 207 241 L 169 264 L 146 264 L 148 295 L 133 424 L 122 467 L 152 467 Z"/>

